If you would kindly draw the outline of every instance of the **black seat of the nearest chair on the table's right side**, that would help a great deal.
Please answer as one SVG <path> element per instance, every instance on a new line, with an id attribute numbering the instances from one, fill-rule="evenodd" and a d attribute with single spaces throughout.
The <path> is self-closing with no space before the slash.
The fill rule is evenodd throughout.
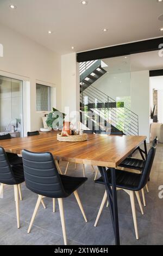
<path id="1" fill-rule="evenodd" d="M 107 175 L 108 175 L 109 184 L 111 185 L 110 169 L 107 170 Z M 139 187 L 140 178 L 141 178 L 141 174 L 130 173 L 124 170 L 116 169 L 116 186 L 117 187 L 120 187 L 126 190 L 137 191 Z M 95 182 L 99 184 L 104 184 L 104 180 L 102 176 L 101 178 L 97 179 Z"/>

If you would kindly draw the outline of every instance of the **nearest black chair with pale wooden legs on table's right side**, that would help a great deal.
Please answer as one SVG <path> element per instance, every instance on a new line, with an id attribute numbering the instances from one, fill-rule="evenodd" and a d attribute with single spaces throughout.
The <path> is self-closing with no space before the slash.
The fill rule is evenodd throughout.
<path id="1" fill-rule="evenodd" d="M 139 239 L 139 235 L 138 235 L 138 230 L 137 230 L 134 191 L 136 193 L 136 197 L 137 197 L 141 212 L 143 214 L 143 209 L 142 209 L 142 205 L 141 205 L 139 191 L 142 190 L 142 188 L 145 187 L 147 182 L 148 182 L 149 175 L 151 173 L 151 169 L 152 169 L 152 165 L 153 165 L 155 152 L 156 152 L 156 143 L 153 143 L 151 149 L 148 152 L 147 159 L 146 159 L 145 165 L 143 167 L 142 173 L 140 173 L 140 174 L 139 173 L 126 172 L 124 170 L 116 169 L 116 186 L 117 186 L 117 189 L 124 190 L 130 196 L 130 202 L 131 202 L 131 209 L 132 209 L 132 213 L 133 213 L 136 239 Z M 107 170 L 107 178 L 108 178 L 109 184 L 111 185 L 110 169 Z M 101 176 L 101 178 L 99 178 L 95 182 L 104 185 L 104 181 L 103 181 L 102 176 Z M 102 200 L 102 203 L 101 203 L 101 206 L 99 208 L 99 212 L 98 212 L 98 215 L 97 215 L 97 218 L 96 218 L 95 227 L 97 225 L 97 222 L 99 220 L 99 217 L 101 215 L 101 212 L 103 210 L 103 207 L 104 207 L 104 204 L 105 204 L 106 200 L 107 200 L 107 194 L 106 194 L 106 191 L 105 191 L 105 194 L 104 194 L 104 197 L 103 197 L 103 200 Z"/>

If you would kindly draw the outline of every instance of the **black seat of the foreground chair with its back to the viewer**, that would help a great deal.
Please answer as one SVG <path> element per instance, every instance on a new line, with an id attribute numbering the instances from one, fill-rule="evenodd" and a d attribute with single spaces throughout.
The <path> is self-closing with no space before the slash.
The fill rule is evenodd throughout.
<path id="1" fill-rule="evenodd" d="M 86 180 L 87 178 L 83 177 L 72 177 L 67 175 L 61 175 L 61 182 L 64 187 L 67 196 L 76 191 Z"/>

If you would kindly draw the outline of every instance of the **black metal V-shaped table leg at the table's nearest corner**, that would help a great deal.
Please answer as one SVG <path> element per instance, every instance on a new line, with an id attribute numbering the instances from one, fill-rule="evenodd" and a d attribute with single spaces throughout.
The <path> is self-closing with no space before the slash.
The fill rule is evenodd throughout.
<path id="1" fill-rule="evenodd" d="M 110 213 L 111 213 L 111 221 L 112 221 L 114 235 L 115 235 L 115 244 L 120 245 L 115 168 L 110 168 L 112 188 L 108 181 L 108 175 L 106 174 L 106 168 L 98 166 L 98 169 L 104 179 L 106 192 L 108 195 L 109 207 L 110 207 Z"/>

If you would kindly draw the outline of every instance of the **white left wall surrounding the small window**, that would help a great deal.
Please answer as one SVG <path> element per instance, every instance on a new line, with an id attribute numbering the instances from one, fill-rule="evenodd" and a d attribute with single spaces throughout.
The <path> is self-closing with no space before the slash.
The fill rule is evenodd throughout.
<path id="1" fill-rule="evenodd" d="M 4 51 L 0 57 L 0 75 L 7 72 L 10 77 L 26 77 L 30 82 L 27 106 L 30 108 L 30 130 L 39 130 L 44 113 L 36 112 L 36 80 L 56 88 L 56 107 L 61 109 L 61 56 L 2 25 L 0 35 Z"/>

